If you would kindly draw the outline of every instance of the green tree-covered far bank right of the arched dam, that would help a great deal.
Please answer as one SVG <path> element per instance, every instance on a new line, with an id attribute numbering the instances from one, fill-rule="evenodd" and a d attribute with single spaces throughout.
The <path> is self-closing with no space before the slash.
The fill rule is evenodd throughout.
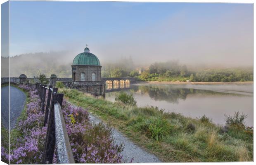
<path id="1" fill-rule="evenodd" d="M 186 65 L 178 61 L 156 62 L 149 66 L 138 78 L 142 81 L 204 81 L 204 82 L 235 82 L 253 81 L 253 69 L 247 68 L 218 68 L 201 71 L 190 71 Z"/>

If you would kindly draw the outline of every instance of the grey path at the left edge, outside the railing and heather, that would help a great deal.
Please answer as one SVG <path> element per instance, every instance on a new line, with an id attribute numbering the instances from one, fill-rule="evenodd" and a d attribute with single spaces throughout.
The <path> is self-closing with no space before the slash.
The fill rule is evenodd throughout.
<path id="1" fill-rule="evenodd" d="M 1 123 L 8 129 L 9 120 L 9 86 L 1 88 Z M 26 94 L 16 87 L 10 86 L 10 130 L 15 127 L 26 103 Z"/>

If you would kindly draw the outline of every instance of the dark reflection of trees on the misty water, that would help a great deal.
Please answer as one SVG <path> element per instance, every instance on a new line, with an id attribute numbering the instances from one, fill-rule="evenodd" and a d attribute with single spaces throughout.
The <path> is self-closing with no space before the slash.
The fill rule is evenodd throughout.
<path id="1" fill-rule="evenodd" d="M 229 93 L 214 92 L 210 90 L 196 90 L 192 88 L 173 88 L 166 86 L 137 86 L 141 94 L 148 93 L 156 101 L 178 103 L 179 99 L 185 100 L 188 94 L 230 95 Z M 135 92 L 137 92 L 136 90 Z M 232 94 L 234 95 L 234 94 Z"/>

